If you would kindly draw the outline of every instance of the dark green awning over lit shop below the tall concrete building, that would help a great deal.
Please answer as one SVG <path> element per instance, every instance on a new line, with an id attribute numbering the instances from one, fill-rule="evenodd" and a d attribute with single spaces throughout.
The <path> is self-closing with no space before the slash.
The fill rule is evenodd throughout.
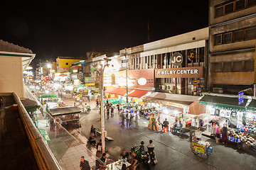
<path id="1" fill-rule="evenodd" d="M 238 97 L 227 97 L 227 96 L 211 96 L 205 95 L 199 101 L 199 104 L 218 106 L 224 108 L 235 108 L 235 109 L 244 109 L 248 99 L 244 98 L 244 103 L 238 106 Z"/>

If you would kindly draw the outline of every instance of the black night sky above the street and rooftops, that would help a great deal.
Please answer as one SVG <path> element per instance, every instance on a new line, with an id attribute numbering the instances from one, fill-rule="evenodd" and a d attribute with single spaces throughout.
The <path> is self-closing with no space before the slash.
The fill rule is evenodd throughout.
<path id="1" fill-rule="evenodd" d="M 208 0 L 6 1 L 0 39 L 29 48 L 36 62 L 89 51 L 119 52 L 208 26 Z"/>

